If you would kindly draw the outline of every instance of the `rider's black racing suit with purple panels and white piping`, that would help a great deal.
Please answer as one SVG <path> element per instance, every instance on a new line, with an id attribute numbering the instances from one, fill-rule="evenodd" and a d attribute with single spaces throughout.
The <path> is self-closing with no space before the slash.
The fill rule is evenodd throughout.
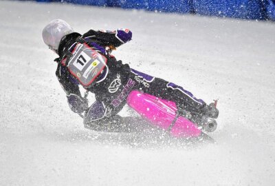
<path id="1" fill-rule="evenodd" d="M 179 110 L 203 114 L 203 107 L 206 106 L 206 103 L 201 99 L 196 99 L 190 92 L 174 83 L 133 70 L 128 64 L 122 64 L 122 61 L 118 61 L 106 52 L 105 48 L 109 46 L 111 48 L 119 47 L 130 41 L 131 31 L 129 30 L 89 30 L 82 36 L 74 32 L 61 39 L 58 48 L 60 57 L 56 59 L 58 62 L 56 76 L 67 93 L 69 105 L 71 104 L 70 94 L 81 96 L 78 87 L 80 84 L 67 70 L 67 67 L 61 64 L 61 61 L 67 57 L 68 51 L 72 52 L 74 45 L 78 43 L 80 38 L 85 39 L 85 43 L 91 48 L 107 57 L 107 66 L 96 78 L 96 83 L 88 88 L 89 92 L 95 94 L 96 102 L 89 108 L 84 107 L 83 110 L 78 110 L 78 114 L 85 112 L 84 123 L 86 127 L 102 130 L 100 129 L 102 123 L 119 120 L 120 116 L 117 114 L 126 104 L 126 96 L 131 90 L 140 90 L 161 99 L 174 101 Z M 70 105 L 72 110 L 78 106 L 76 102 Z"/>

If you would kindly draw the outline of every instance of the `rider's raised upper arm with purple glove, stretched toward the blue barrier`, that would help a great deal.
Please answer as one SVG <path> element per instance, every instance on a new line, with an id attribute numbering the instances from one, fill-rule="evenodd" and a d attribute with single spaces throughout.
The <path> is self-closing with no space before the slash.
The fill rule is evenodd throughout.
<path id="1" fill-rule="evenodd" d="M 131 41 L 132 32 L 129 29 L 118 30 L 89 30 L 83 34 L 84 39 L 89 39 L 91 42 L 96 42 L 98 45 L 107 47 L 113 45 L 119 47 L 120 45 Z"/>

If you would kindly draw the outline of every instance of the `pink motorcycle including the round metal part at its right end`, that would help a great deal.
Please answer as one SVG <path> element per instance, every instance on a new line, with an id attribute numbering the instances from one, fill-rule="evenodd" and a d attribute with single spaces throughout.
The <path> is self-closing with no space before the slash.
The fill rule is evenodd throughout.
<path id="1" fill-rule="evenodd" d="M 217 129 L 217 122 L 213 118 L 192 118 L 184 111 L 179 114 L 173 101 L 159 99 L 137 90 L 129 94 L 126 102 L 146 121 L 168 131 L 176 138 L 196 138 L 203 135 L 204 131 L 213 132 Z"/>

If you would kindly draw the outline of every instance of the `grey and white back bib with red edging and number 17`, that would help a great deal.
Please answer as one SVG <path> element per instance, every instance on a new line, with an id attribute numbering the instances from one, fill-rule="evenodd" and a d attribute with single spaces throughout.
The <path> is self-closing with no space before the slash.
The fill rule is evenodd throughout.
<path id="1" fill-rule="evenodd" d="M 102 72 L 107 63 L 105 56 L 91 49 L 86 43 L 78 43 L 72 52 L 72 56 L 67 60 L 69 60 L 67 63 L 69 72 L 85 88 L 94 85 L 96 77 Z"/>

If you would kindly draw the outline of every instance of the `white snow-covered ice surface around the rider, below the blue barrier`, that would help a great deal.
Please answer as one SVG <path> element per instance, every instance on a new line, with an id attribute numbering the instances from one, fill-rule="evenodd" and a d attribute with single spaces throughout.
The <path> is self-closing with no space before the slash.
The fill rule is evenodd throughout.
<path id="1" fill-rule="evenodd" d="M 274 23 L 22 1 L 1 1 L 0 17 L 0 185 L 274 185 Z M 217 144 L 86 130 L 41 38 L 57 18 L 131 29 L 113 54 L 219 99 Z"/>

